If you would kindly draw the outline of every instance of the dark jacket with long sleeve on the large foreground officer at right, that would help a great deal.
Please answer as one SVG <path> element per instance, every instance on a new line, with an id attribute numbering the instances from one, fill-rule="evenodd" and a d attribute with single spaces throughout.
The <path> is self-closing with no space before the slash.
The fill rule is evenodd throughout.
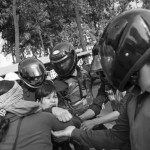
<path id="1" fill-rule="evenodd" d="M 116 125 L 109 130 L 75 129 L 72 138 L 90 147 L 120 148 L 130 145 L 132 150 L 150 149 L 150 94 L 127 94 L 127 106 Z"/>

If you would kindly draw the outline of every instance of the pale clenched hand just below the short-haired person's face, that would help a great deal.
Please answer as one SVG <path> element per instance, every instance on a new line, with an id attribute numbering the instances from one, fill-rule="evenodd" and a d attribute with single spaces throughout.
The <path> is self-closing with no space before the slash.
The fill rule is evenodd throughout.
<path id="1" fill-rule="evenodd" d="M 53 107 L 52 113 L 53 115 L 56 116 L 56 118 L 59 121 L 62 121 L 62 122 L 67 122 L 72 119 L 72 115 L 67 109 L 63 109 L 60 107 Z"/>

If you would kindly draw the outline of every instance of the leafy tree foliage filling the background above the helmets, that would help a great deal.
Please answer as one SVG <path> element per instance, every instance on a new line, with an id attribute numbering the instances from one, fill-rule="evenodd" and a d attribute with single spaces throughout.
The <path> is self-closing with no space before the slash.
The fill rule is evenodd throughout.
<path id="1" fill-rule="evenodd" d="M 138 3 L 138 0 L 135 0 Z M 131 9 L 131 0 L 78 0 L 79 15 L 84 39 L 94 44 L 107 23 L 116 15 Z M 150 8 L 149 0 L 143 7 Z M 18 0 L 20 56 L 32 53 L 35 57 L 47 55 L 53 46 L 69 41 L 80 47 L 79 30 L 76 24 L 74 0 Z M 0 32 L 7 40 L 3 51 L 12 53 L 15 30 L 12 0 L 0 0 Z"/>

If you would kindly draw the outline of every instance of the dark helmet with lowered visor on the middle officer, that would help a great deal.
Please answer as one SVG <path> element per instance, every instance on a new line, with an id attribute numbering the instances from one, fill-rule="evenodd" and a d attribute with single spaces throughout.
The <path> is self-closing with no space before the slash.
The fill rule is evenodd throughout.
<path id="1" fill-rule="evenodd" d="M 73 45 L 68 42 L 57 44 L 50 54 L 50 62 L 60 77 L 70 76 L 77 66 L 77 54 Z"/>

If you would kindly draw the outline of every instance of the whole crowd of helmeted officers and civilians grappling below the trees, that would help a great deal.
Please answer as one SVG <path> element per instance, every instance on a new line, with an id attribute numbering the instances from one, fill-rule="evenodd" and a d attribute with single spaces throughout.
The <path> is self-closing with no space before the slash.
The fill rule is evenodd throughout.
<path id="1" fill-rule="evenodd" d="M 55 79 L 35 58 L 0 79 L 1 150 L 150 149 L 150 10 L 113 18 L 93 56 L 100 79 L 96 96 L 93 74 L 77 65 L 69 42 L 51 51 Z M 107 102 L 113 111 L 101 116 Z M 116 123 L 107 129 L 111 121 Z"/>

